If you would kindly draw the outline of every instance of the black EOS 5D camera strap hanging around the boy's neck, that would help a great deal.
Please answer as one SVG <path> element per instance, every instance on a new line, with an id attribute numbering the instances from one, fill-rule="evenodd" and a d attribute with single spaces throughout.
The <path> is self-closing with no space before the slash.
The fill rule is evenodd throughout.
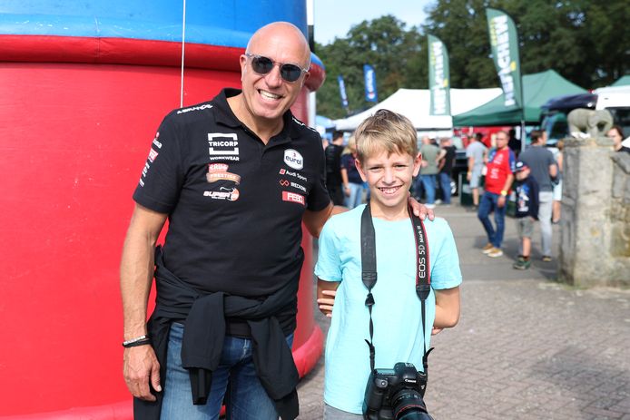
<path id="1" fill-rule="evenodd" d="M 422 311 L 422 334 L 424 343 L 424 353 L 422 356 L 422 365 L 424 367 L 425 374 L 428 368 L 428 354 L 432 348 L 427 351 L 426 332 L 427 326 L 425 324 L 425 300 L 428 298 L 428 294 L 431 291 L 430 272 L 428 268 L 428 241 L 427 232 L 424 229 L 422 220 L 413 214 L 413 210 L 409 206 L 409 218 L 414 230 L 414 239 L 416 239 L 416 250 L 418 251 L 418 258 L 416 259 L 416 294 L 420 299 L 420 306 Z M 376 234 L 374 231 L 374 224 L 372 223 L 372 213 L 369 208 L 369 202 L 365 206 L 363 213 L 361 214 L 361 278 L 363 284 L 368 288 L 368 297 L 365 299 L 365 305 L 369 310 L 369 340 L 365 340 L 369 347 L 369 366 L 371 370 L 374 370 L 374 357 L 376 349 L 374 347 L 374 323 L 372 321 L 372 307 L 374 306 L 374 296 L 372 295 L 372 288 L 376 285 L 377 271 L 376 271 Z"/>

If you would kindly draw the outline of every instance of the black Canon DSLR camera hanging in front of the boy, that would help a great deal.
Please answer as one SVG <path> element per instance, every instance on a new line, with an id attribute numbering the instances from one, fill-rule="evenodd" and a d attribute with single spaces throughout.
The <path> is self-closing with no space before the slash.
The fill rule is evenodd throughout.
<path id="1" fill-rule="evenodd" d="M 366 420 L 433 420 L 424 396 L 427 375 L 411 363 L 399 362 L 393 369 L 374 369 L 363 400 Z"/>

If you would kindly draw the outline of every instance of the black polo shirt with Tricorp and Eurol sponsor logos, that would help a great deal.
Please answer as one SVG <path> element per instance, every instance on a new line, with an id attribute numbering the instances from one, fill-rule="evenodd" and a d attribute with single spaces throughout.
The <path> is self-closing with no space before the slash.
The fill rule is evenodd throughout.
<path id="1" fill-rule="evenodd" d="M 133 200 L 169 215 L 164 264 L 178 278 L 202 293 L 263 298 L 299 281 L 302 215 L 330 198 L 320 135 L 286 112 L 265 145 L 231 112 L 238 93 L 164 118 Z M 296 311 L 297 298 L 282 311 L 286 332 Z"/>

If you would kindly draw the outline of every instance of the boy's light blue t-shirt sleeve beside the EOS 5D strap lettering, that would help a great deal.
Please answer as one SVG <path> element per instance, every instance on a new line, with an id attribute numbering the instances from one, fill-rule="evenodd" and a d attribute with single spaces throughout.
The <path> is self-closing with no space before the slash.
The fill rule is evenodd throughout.
<path id="1" fill-rule="evenodd" d="M 436 218 L 435 232 L 441 240 L 438 241 L 433 267 L 431 269 L 431 287 L 434 289 L 456 288 L 461 284 L 461 269 L 459 269 L 458 248 L 455 245 L 453 232 L 448 226 L 447 220 Z"/>

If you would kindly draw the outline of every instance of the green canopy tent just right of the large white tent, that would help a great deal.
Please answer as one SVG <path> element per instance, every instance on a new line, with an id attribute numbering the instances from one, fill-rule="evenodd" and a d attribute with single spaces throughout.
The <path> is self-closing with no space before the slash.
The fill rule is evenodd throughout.
<path id="1" fill-rule="evenodd" d="M 454 115 L 453 125 L 456 127 L 519 125 L 523 121 L 526 124 L 534 125 L 540 122 L 540 106 L 542 104 L 555 96 L 571 93 L 586 93 L 586 89 L 567 81 L 554 70 L 526 74 L 523 76 L 525 112 L 520 108 L 506 107 L 503 104 L 503 95 L 501 94 L 473 110 Z"/>

